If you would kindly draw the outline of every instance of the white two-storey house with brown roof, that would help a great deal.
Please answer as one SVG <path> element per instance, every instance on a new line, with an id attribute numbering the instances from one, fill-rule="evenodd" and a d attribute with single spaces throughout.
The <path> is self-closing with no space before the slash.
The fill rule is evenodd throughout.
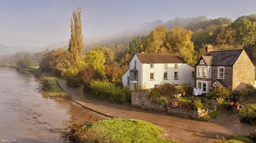
<path id="1" fill-rule="evenodd" d="M 135 53 L 130 67 L 122 76 L 122 84 L 152 88 L 163 83 L 190 83 L 194 87 L 195 68 L 186 64 L 178 54 Z"/>

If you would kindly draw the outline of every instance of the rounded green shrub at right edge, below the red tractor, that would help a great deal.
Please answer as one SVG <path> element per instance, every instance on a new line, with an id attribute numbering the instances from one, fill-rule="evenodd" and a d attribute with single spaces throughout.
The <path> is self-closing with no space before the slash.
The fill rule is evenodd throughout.
<path id="1" fill-rule="evenodd" d="M 256 125 L 256 104 L 245 105 L 241 108 L 239 115 L 241 122 Z"/>

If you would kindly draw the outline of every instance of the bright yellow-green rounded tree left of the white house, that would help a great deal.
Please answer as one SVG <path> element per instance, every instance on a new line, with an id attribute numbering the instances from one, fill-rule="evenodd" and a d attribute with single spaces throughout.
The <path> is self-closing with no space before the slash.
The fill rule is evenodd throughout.
<path id="1" fill-rule="evenodd" d="M 104 75 L 104 64 L 106 59 L 104 53 L 100 50 L 90 50 L 86 56 L 86 63 L 89 68 L 94 68 L 100 74 Z"/>

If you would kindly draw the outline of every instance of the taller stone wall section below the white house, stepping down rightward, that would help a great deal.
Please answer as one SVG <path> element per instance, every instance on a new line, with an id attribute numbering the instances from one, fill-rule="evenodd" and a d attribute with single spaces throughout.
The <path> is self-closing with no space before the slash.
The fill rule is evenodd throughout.
<path id="1" fill-rule="evenodd" d="M 140 107 L 151 111 L 163 112 L 164 105 L 158 105 L 152 99 L 148 98 L 149 90 L 132 91 L 131 92 L 131 106 Z"/>

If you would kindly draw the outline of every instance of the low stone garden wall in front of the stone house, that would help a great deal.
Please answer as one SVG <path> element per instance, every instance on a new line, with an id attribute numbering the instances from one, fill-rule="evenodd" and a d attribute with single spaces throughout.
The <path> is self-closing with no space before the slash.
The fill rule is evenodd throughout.
<path id="1" fill-rule="evenodd" d="M 171 108 L 168 107 L 167 112 L 171 115 L 175 115 L 178 117 L 189 118 L 189 119 L 199 119 L 200 117 L 207 115 L 210 112 L 216 111 L 217 108 L 213 110 L 205 110 L 205 109 L 198 109 L 198 110 L 189 110 L 183 108 Z"/>

